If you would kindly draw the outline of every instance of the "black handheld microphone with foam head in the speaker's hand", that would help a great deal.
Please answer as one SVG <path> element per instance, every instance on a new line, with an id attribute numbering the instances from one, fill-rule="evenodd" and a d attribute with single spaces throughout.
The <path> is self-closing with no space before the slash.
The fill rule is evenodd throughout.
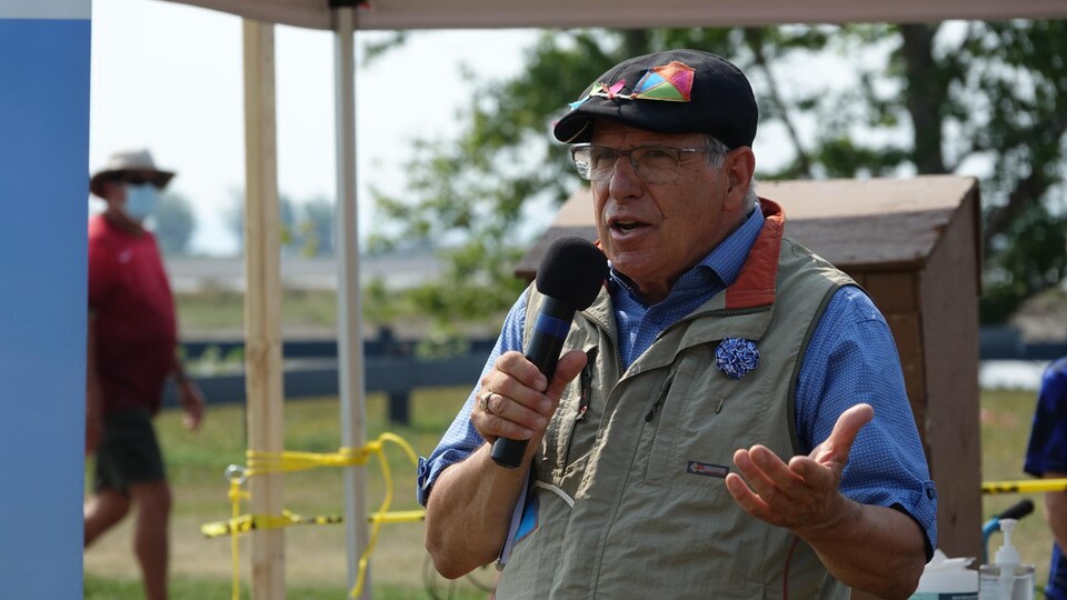
<path id="1" fill-rule="evenodd" d="M 549 383 L 575 312 L 592 304 L 607 277 L 608 259 L 585 238 L 557 238 L 541 259 L 537 291 L 545 296 L 545 302 L 534 323 L 526 358 Z M 522 462 L 528 441 L 497 438 L 489 456 L 497 464 L 515 469 Z"/>

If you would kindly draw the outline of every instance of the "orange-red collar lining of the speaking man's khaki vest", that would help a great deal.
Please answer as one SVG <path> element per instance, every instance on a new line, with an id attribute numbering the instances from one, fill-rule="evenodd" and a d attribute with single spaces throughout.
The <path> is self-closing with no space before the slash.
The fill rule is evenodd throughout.
<path id="1" fill-rule="evenodd" d="M 775 281 L 778 278 L 778 252 L 786 232 L 786 213 L 777 202 L 759 199 L 764 211 L 764 227 L 737 281 L 726 289 L 727 309 L 746 309 L 771 304 L 775 301 Z"/>

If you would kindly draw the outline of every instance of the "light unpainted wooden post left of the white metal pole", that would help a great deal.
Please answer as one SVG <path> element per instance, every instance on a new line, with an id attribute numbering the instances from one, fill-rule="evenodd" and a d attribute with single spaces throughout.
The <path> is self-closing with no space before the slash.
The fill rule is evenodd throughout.
<path id="1" fill-rule="evenodd" d="M 245 19 L 245 337 L 248 448 L 283 449 L 275 26 Z M 282 474 L 249 481 L 251 512 L 281 514 Z M 286 597 L 285 533 L 252 532 L 252 596 Z"/>

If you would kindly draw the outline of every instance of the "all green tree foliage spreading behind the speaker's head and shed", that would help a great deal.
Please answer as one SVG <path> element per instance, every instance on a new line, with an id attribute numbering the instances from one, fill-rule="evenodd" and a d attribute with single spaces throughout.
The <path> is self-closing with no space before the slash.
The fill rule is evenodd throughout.
<path id="1" fill-rule="evenodd" d="M 510 270 L 530 241 L 521 226 L 581 184 L 551 121 L 624 58 L 681 47 L 722 54 L 752 80 L 761 131 L 781 131 L 789 147 L 758 178 L 984 169 L 986 321 L 1067 273 L 1064 21 L 546 31 L 517 77 L 467 76 L 475 91 L 457 114 L 462 133 L 416 142 L 409 194 L 375 192 L 400 223 L 391 240 L 459 240 L 447 284 L 417 292 L 426 311 L 449 322 L 513 300 L 523 283 Z M 791 84 L 792 70 L 826 57 L 847 64 L 855 83 Z"/>

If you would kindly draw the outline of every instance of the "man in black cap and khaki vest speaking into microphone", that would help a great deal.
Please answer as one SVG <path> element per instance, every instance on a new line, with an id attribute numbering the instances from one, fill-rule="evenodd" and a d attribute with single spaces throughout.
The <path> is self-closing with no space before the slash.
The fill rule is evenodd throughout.
<path id="1" fill-rule="evenodd" d="M 551 381 L 522 354 L 536 291 L 523 293 L 479 386 L 439 446 L 420 460 L 426 544 L 443 576 L 460 577 L 497 560 L 502 584 L 509 577 L 522 582 L 509 588 L 509 598 L 640 597 L 657 578 L 671 582 L 676 598 L 727 598 L 727 586 L 708 586 L 745 571 L 735 557 L 749 552 L 759 560 L 746 577 L 770 573 L 759 589 L 769 592 L 780 581 L 787 596 L 787 587 L 797 593 L 797 584 L 810 583 L 794 579 L 798 564 L 810 566 L 800 558 L 808 552 L 829 576 L 819 580 L 818 593 L 798 597 L 840 597 L 838 582 L 882 598 L 915 590 L 936 547 L 937 494 L 896 347 L 862 290 L 799 244 L 782 241 L 780 208 L 757 199 L 754 189 L 756 121 L 751 88 L 736 67 L 707 52 L 674 50 L 610 69 L 555 123 L 556 138 L 574 144 L 576 168 L 590 181 L 609 276 L 597 303 L 571 327 Z M 789 322 L 799 312 L 790 312 L 788 300 L 775 301 L 776 294 L 797 298 L 789 296 L 790 282 L 775 279 L 779 264 L 792 264 L 787 248 L 802 257 L 801 269 L 826 269 L 837 273 L 827 276 L 834 281 L 846 281 L 825 301 L 796 302 L 812 307 L 807 322 Z M 614 321 L 601 322 L 609 333 L 599 338 L 589 324 L 598 306 Z M 799 331 L 802 351 L 781 356 L 775 339 L 758 333 L 692 346 L 678 341 L 685 331 L 714 332 L 731 319 L 744 327 L 758 321 L 771 332 Z M 589 342 L 580 342 L 582 336 L 591 336 L 599 356 L 584 351 Z M 678 357 L 650 368 L 649 357 L 660 356 L 667 343 L 681 344 Z M 707 363 L 694 364 L 698 357 L 708 357 Z M 797 364 L 791 382 L 779 377 L 790 364 Z M 645 407 L 640 411 L 627 408 L 635 383 L 668 371 L 651 410 L 650 398 L 632 404 Z M 776 453 L 758 428 L 700 433 L 714 429 L 708 421 L 720 411 L 732 418 L 731 411 L 758 410 L 745 403 L 762 401 L 752 389 L 760 381 L 781 389 L 780 398 L 767 399 L 769 406 L 786 408 L 780 418 L 757 419 L 775 419 L 779 441 L 791 438 L 791 446 L 779 443 Z M 738 390 L 746 400 L 697 393 L 719 389 Z M 700 443 L 685 452 L 740 440 L 727 458 L 732 466 L 672 450 L 689 440 L 652 440 L 647 431 L 654 428 L 640 423 L 657 419 L 698 432 Z M 576 441 L 560 458 L 562 429 Z M 501 437 L 530 440 L 519 469 L 490 459 L 491 442 Z M 627 444 L 636 450 L 624 472 L 615 467 Z M 657 457 L 669 473 L 651 466 L 659 464 Z M 646 462 L 644 479 L 626 474 Z M 629 518 L 624 504 L 648 514 Z M 559 510 L 569 511 L 562 521 Z M 730 546 L 736 529 L 759 528 L 776 536 L 772 547 Z M 668 530 L 677 532 L 669 541 L 659 537 Z M 690 531 L 697 533 L 681 533 Z M 726 546 L 701 550 L 718 540 Z M 626 544 L 631 548 L 620 548 Z M 730 559 L 712 559 L 719 550 Z M 697 554 L 697 563 L 689 554 Z M 734 593 L 751 597 L 740 588 Z"/>

